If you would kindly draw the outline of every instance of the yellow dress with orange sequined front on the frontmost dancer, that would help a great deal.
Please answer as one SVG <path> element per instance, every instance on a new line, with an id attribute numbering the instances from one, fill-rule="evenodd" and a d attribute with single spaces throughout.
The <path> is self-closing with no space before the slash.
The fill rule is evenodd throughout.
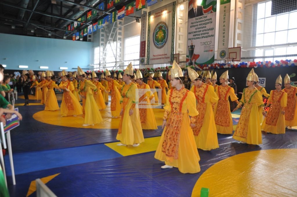
<path id="1" fill-rule="evenodd" d="M 200 171 L 200 157 L 196 147 L 190 118 L 193 123 L 196 110 L 194 93 L 185 88 L 170 89 L 167 93 L 165 113 L 167 119 L 155 158 L 165 161 L 166 165 L 177 167 L 182 173 L 197 173 Z"/>

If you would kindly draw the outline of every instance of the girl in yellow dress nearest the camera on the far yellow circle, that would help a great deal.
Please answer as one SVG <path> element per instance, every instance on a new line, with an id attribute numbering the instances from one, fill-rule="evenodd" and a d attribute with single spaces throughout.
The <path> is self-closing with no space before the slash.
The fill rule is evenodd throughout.
<path id="1" fill-rule="evenodd" d="M 101 123 L 102 116 L 92 93 L 92 90 L 97 91 L 97 87 L 90 80 L 85 79 L 86 74 L 79 66 L 77 70 L 78 79 L 80 79 L 80 95 L 83 98 L 83 126 Z"/>

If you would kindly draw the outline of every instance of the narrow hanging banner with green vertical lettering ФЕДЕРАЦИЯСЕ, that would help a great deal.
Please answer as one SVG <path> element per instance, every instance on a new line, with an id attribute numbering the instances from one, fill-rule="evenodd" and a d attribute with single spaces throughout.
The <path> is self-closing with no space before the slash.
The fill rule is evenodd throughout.
<path id="1" fill-rule="evenodd" d="M 218 60 L 229 58 L 230 2 L 231 0 L 220 0 Z"/>

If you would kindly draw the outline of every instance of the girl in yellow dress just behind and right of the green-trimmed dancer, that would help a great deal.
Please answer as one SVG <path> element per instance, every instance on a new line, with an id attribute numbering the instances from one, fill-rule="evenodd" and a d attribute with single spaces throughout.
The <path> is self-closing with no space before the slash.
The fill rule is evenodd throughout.
<path id="1" fill-rule="evenodd" d="M 138 69 L 136 72 L 136 82 L 138 83 L 137 88 L 139 91 L 139 114 L 140 122 L 142 129 L 157 129 L 157 122 L 151 106 L 151 99 L 154 97 L 154 94 L 151 94 L 151 91 L 143 91 L 143 89 L 150 89 L 149 85 L 143 82 L 143 77 Z"/>

